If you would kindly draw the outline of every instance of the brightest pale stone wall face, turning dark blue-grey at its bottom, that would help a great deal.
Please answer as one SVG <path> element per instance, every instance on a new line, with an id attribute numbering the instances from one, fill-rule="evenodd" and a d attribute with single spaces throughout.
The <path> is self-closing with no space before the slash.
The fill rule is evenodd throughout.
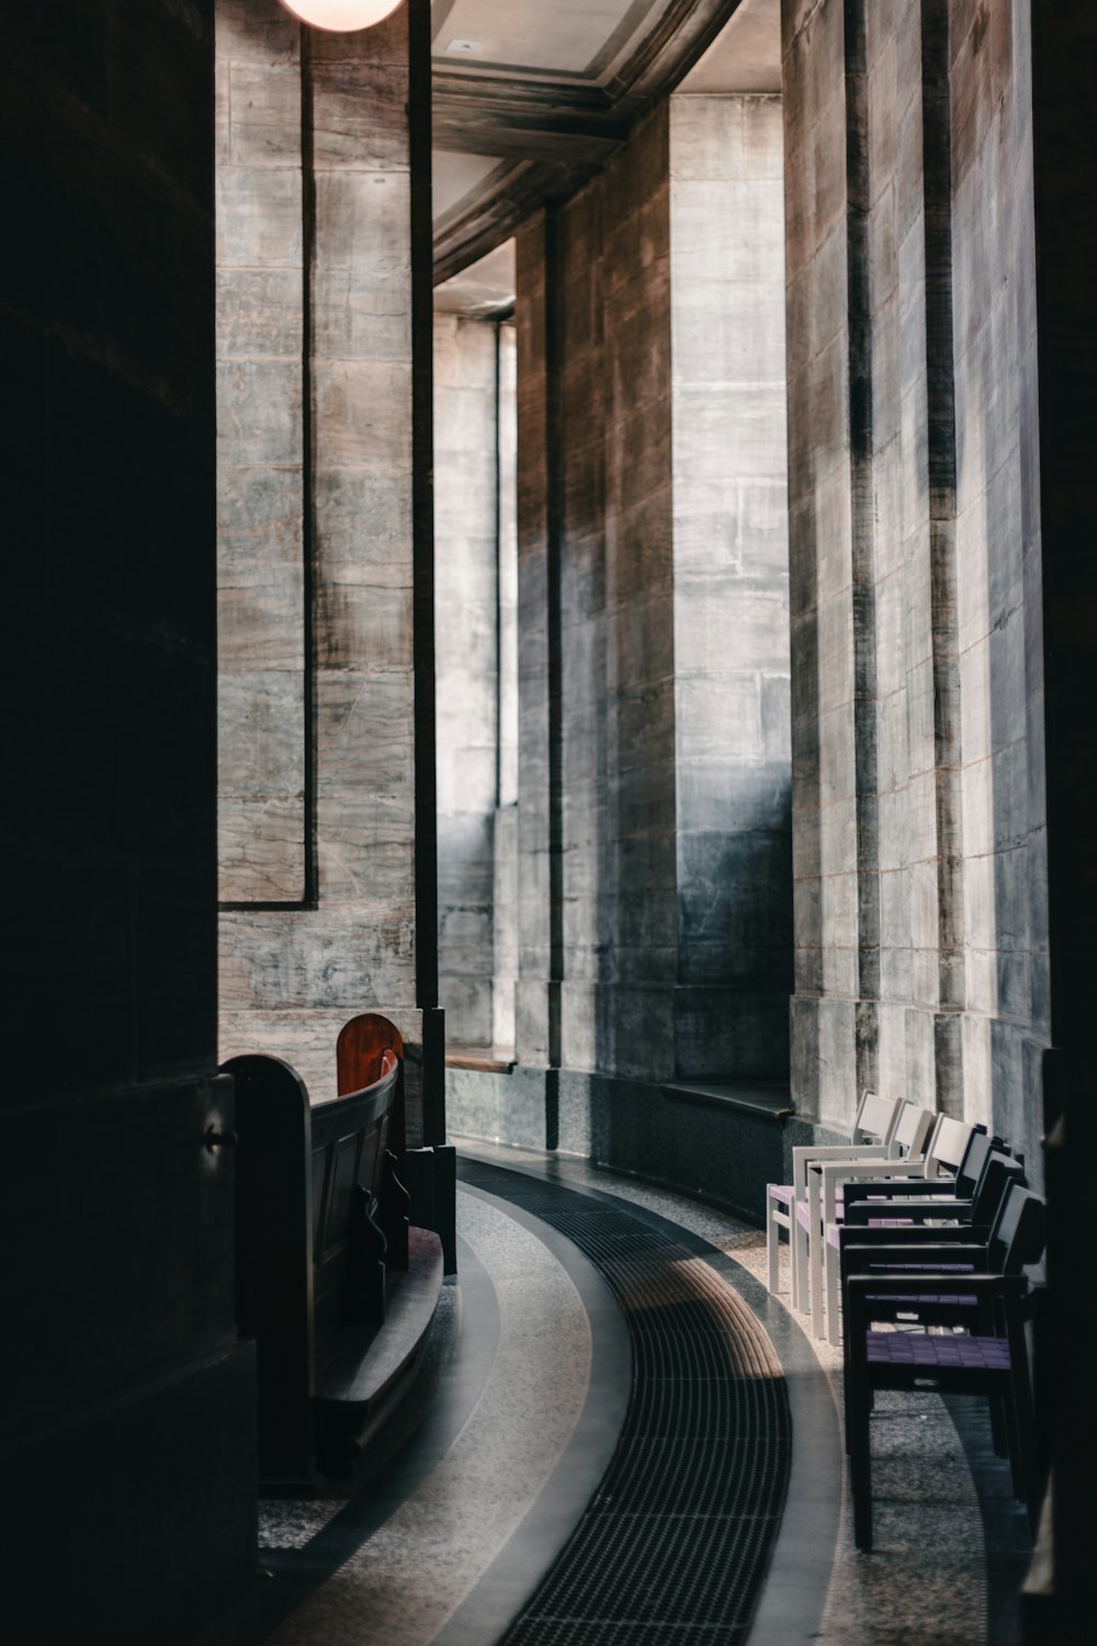
<path id="1" fill-rule="evenodd" d="M 791 991 L 781 99 L 671 99 L 681 1078 L 783 1076 Z"/>

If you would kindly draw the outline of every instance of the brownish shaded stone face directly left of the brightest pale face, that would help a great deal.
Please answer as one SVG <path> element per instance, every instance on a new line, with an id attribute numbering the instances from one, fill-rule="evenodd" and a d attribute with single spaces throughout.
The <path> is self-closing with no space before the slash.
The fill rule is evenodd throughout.
<path id="1" fill-rule="evenodd" d="M 561 214 L 556 270 L 561 1062 L 650 1078 L 678 978 L 669 189 L 663 105 Z"/>

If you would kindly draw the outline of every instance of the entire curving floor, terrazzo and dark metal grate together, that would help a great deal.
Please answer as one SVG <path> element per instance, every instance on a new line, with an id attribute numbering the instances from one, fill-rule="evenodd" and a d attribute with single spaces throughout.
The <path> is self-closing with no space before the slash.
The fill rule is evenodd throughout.
<path id="1" fill-rule="evenodd" d="M 1026 1531 L 980 1411 L 880 1401 L 860 1554 L 837 1356 L 758 1231 L 558 1155 L 467 1144 L 461 1175 L 373 1488 L 265 1504 L 263 1575 L 201 1646 L 1016 1646 Z"/>

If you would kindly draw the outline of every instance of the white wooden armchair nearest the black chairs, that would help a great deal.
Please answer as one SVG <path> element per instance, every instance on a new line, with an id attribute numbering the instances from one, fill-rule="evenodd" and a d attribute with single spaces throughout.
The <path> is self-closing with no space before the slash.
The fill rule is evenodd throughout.
<path id="1" fill-rule="evenodd" d="M 857 1179 L 910 1179 L 911 1185 L 942 1175 L 956 1177 L 967 1152 L 974 1128 L 954 1121 L 949 1114 L 934 1116 L 929 1109 L 914 1109 L 896 1126 L 896 1142 L 903 1141 L 901 1157 L 880 1160 L 821 1160 L 809 1172 L 808 1185 L 808 1271 L 811 1286 L 811 1330 L 822 1337 L 826 1314 L 827 1341 L 842 1341 L 839 1327 L 839 1226 L 842 1223 L 840 1183 Z M 901 1139 L 900 1139 L 901 1134 Z M 882 1218 L 901 1220 L 901 1200 L 880 1207 Z M 947 1216 L 942 1208 L 942 1218 Z"/>

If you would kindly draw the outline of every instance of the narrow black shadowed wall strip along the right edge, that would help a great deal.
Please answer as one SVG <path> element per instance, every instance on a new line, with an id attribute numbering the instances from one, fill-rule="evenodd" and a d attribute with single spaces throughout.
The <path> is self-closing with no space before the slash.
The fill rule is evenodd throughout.
<path id="1" fill-rule="evenodd" d="M 1026 1639 L 1094 1623 L 1097 1335 L 1092 1215 L 1097 1157 L 1092 945 L 1097 923 L 1097 15 L 1033 5 L 1033 148 L 1039 337 L 1039 489 L 1053 1050 L 1046 1060 L 1051 1307 L 1036 1365 L 1054 1491 L 1051 1593 L 1036 1585 Z"/>

